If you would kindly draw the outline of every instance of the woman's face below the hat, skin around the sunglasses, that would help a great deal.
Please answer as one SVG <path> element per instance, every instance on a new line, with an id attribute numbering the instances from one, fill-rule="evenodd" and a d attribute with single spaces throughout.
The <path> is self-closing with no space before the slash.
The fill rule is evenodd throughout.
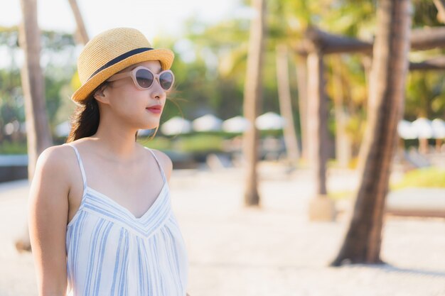
<path id="1" fill-rule="evenodd" d="M 137 66 L 147 67 L 156 74 L 162 71 L 159 60 L 151 60 L 134 64 L 119 73 L 132 71 Z M 166 92 L 158 80 L 154 80 L 149 89 L 138 89 L 132 77 L 125 77 L 109 82 L 104 88 L 104 94 L 109 96 L 108 109 L 113 112 L 113 116 L 127 123 L 129 127 L 151 129 L 159 126 L 163 106 L 166 103 Z M 148 109 L 155 105 L 160 105 L 161 108 L 157 113 Z"/>

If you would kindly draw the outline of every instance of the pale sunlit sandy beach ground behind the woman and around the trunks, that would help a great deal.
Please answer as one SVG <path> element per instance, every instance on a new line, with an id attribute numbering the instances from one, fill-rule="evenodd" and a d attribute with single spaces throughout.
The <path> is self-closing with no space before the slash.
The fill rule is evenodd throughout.
<path id="1" fill-rule="evenodd" d="M 191 296 L 445 295 L 445 219 L 387 216 L 387 265 L 331 268 L 348 215 L 310 222 L 306 171 L 287 175 L 261 163 L 259 172 L 261 207 L 246 208 L 239 168 L 173 170 L 171 202 L 188 248 Z M 357 183 L 353 172 L 328 172 L 331 190 Z M 27 193 L 27 181 L 0 185 L 0 296 L 37 295 L 31 254 L 14 248 Z"/>

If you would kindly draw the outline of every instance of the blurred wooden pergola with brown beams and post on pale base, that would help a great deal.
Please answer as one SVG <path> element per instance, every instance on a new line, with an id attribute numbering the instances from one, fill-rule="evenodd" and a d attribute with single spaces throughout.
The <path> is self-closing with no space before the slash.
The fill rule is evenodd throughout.
<path id="1" fill-rule="evenodd" d="M 445 48 L 445 27 L 416 29 L 410 35 L 412 50 Z M 316 198 L 309 210 L 312 220 L 332 220 L 335 209 L 331 199 L 326 198 L 326 163 L 328 160 L 328 106 L 325 91 L 324 57 L 339 53 L 363 53 L 372 55 L 373 42 L 348 38 L 310 27 L 304 40 L 295 48 L 295 52 L 305 57 L 307 85 L 306 121 L 304 133 L 311 135 L 311 141 L 305 141 L 304 147 L 316 180 Z M 409 62 L 409 70 L 444 70 L 445 57 L 435 57 L 423 62 Z"/>

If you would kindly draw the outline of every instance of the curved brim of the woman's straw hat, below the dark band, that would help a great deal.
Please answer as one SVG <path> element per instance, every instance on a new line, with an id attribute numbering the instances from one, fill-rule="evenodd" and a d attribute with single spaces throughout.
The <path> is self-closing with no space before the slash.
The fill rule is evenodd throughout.
<path id="1" fill-rule="evenodd" d="M 121 60 L 114 65 L 107 67 L 100 72 L 97 72 L 74 92 L 74 94 L 71 96 L 71 100 L 75 103 L 84 101 L 102 82 L 104 82 L 117 72 L 124 70 L 126 67 L 137 64 L 138 62 L 159 60 L 161 62 L 162 70 L 167 70 L 170 69 L 171 64 L 173 63 L 173 59 L 173 51 L 166 48 L 144 51 L 143 53 L 137 53 L 136 55 L 127 57 L 124 60 Z"/>

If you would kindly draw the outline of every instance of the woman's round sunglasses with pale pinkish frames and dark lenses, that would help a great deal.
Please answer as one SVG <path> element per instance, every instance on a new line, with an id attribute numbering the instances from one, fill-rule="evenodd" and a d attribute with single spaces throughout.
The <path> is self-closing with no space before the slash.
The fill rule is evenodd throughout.
<path id="1" fill-rule="evenodd" d="M 159 74 L 156 74 L 144 66 L 135 67 L 130 72 L 115 74 L 112 77 L 109 77 L 107 81 L 119 80 L 126 77 L 132 77 L 132 80 L 138 89 L 149 89 L 156 79 L 162 89 L 166 92 L 173 87 L 173 82 L 175 81 L 175 76 L 171 70 L 163 70 Z"/>

